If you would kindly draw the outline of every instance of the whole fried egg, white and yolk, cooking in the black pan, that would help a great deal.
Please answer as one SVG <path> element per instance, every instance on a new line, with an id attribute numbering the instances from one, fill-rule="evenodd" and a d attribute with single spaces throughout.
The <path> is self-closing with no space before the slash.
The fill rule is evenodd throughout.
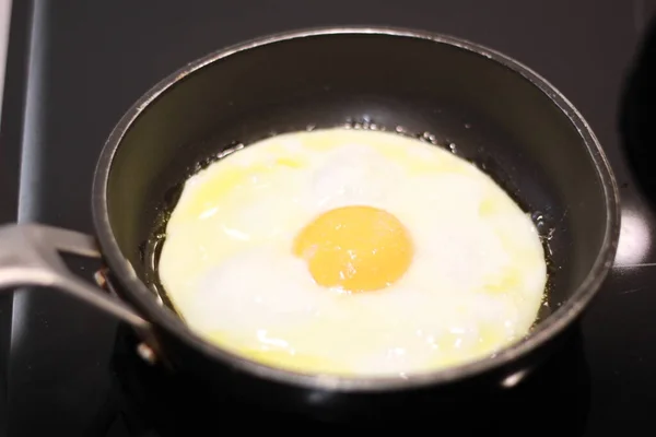
<path id="1" fill-rule="evenodd" d="M 251 144 L 190 177 L 159 275 L 188 326 L 259 363 L 407 375 L 526 335 L 547 265 L 529 215 L 475 165 L 396 133 Z"/>

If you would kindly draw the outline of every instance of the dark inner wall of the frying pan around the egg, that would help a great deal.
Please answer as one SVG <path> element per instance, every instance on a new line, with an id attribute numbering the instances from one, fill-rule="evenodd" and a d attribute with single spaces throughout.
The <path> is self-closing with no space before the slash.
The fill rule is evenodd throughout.
<path id="1" fill-rule="evenodd" d="M 132 122 L 107 186 L 110 226 L 153 297 L 167 213 L 191 174 L 236 144 L 349 125 L 401 130 L 492 176 L 532 214 L 548 248 L 540 320 L 572 298 L 601 249 L 606 201 L 566 115 L 512 69 L 469 50 L 394 35 L 316 35 L 214 60 Z"/>

